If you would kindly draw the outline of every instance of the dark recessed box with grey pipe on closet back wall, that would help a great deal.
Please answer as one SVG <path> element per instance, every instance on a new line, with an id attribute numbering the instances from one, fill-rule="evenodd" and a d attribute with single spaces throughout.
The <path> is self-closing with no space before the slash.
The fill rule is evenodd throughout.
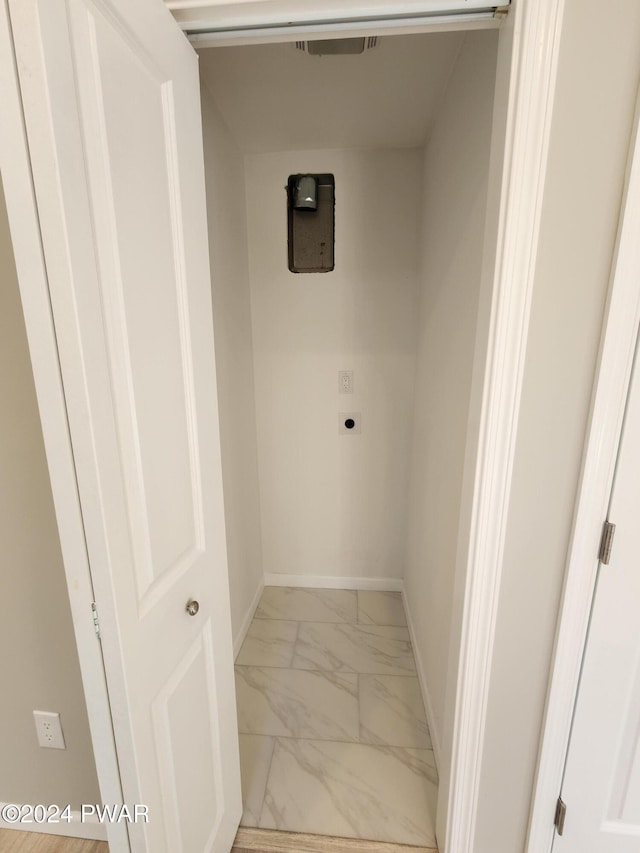
<path id="1" fill-rule="evenodd" d="M 333 175 L 290 175 L 287 220 L 291 272 L 331 272 L 335 243 Z"/>

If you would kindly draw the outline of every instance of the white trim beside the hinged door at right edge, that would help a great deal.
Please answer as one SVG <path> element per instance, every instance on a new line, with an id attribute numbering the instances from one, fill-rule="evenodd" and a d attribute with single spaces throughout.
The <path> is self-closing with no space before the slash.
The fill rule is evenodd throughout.
<path id="1" fill-rule="evenodd" d="M 576 503 L 573 535 L 544 733 L 538 762 L 527 853 L 545 853 L 553 841 L 553 810 L 560 794 L 580 666 L 598 570 L 598 547 L 613 484 L 624 410 L 640 324 L 640 92 L 627 167 L 591 420 Z M 615 523 L 615 519 L 612 519 Z"/>

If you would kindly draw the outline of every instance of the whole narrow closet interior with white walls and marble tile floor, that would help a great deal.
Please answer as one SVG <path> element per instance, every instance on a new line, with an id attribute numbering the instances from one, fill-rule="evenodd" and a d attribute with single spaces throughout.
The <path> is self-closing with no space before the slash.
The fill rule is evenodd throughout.
<path id="1" fill-rule="evenodd" d="M 436 847 L 497 44 L 200 51 L 244 826 Z"/>

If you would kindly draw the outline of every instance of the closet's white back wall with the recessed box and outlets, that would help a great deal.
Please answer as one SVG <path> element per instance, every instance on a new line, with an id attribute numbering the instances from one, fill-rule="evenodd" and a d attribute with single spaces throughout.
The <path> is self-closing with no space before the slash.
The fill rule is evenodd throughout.
<path id="1" fill-rule="evenodd" d="M 287 269 L 290 174 L 336 179 L 336 268 Z M 266 573 L 401 578 L 416 345 L 418 149 L 246 159 Z M 353 370 L 355 393 L 338 393 Z M 362 434 L 338 434 L 338 412 Z"/>

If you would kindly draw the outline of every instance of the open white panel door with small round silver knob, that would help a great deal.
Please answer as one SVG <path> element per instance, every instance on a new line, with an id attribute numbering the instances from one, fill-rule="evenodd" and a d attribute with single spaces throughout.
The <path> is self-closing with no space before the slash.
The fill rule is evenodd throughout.
<path id="1" fill-rule="evenodd" d="M 241 797 L 197 57 L 161 0 L 10 12 L 124 797 L 149 810 L 131 848 L 227 853 Z"/>

